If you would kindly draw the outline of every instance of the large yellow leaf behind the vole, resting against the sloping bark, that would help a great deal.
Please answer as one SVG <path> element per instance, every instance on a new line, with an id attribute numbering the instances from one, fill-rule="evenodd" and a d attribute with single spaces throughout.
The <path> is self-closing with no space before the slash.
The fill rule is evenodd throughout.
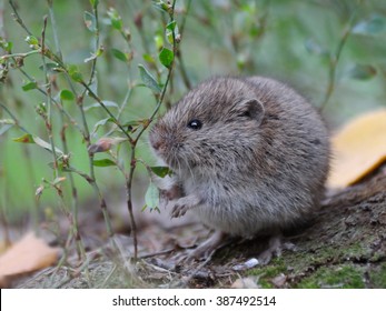
<path id="1" fill-rule="evenodd" d="M 386 161 L 386 110 L 354 119 L 333 137 L 331 144 L 327 185 L 343 188 L 359 181 Z"/>

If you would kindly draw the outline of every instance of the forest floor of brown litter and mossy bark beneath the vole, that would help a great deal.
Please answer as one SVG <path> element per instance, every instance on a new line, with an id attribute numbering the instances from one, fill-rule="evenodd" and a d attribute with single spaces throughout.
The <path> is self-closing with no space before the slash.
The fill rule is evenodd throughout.
<path id="1" fill-rule="evenodd" d="M 329 194 L 296 245 L 267 265 L 257 263 L 268 239 L 234 241 L 209 260 L 178 258 L 210 235 L 200 223 L 138 230 L 138 257 L 127 229 L 103 237 L 100 215 L 81 215 L 87 260 L 68 260 L 18 278 L 16 288 L 386 288 L 386 173 Z M 99 224 L 98 224 L 99 223 Z M 101 247 L 102 245 L 102 247 Z"/>

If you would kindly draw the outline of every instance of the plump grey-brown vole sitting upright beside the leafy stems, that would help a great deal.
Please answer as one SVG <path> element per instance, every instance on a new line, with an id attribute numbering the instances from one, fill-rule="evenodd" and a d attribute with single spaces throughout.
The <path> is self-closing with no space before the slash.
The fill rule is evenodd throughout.
<path id="1" fill-rule="evenodd" d="M 324 195 L 325 122 L 300 94 L 269 78 L 201 82 L 156 122 L 149 141 L 175 173 L 165 191 L 171 217 L 190 211 L 216 230 L 195 257 L 224 234 L 274 234 L 271 253 L 277 234 L 301 222 Z"/>

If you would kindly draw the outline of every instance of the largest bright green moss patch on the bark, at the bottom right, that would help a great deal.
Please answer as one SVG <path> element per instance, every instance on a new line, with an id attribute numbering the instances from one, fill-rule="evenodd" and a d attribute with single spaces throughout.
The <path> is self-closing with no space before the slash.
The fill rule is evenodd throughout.
<path id="1" fill-rule="evenodd" d="M 303 279 L 296 288 L 342 288 L 363 289 L 363 269 L 354 265 L 323 267 L 310 277 Z"/>

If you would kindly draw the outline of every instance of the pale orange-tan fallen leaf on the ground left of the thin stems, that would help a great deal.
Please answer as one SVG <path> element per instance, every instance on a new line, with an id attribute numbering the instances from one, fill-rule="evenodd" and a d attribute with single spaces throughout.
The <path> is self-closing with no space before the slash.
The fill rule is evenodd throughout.
<path id="1" fill-rule="evenodd" d="M 58 255 L 58 248 L 47 245 L 34 233 L 28 233 L 0 257 L 0 283 L 4 283 L 8 277 L 50 267 Z"/>

